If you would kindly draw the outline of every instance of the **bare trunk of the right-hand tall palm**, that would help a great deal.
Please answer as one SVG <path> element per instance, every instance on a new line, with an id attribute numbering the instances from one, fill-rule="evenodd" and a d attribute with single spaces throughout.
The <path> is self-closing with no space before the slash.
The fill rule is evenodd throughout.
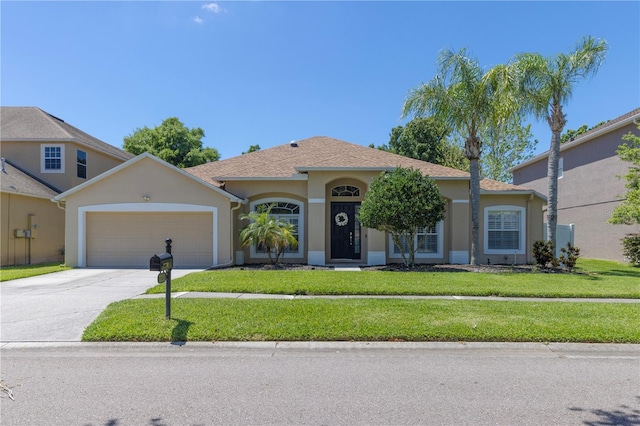
<path id="1" fill-rule="evenodd" d="M 547 240 L 556 245 L 556 229 L 558 226 L 558 162 L 560 160 L 560 135 L 566 124 L 566 116 L 562 112 L 561 105 L 551 108 L 551 115 L 547 117 L 551 128 L 551 147 L 549 148 L 549 160 L 547 169 Z M 553 253 L 555 256 L 555 251 Z"/>

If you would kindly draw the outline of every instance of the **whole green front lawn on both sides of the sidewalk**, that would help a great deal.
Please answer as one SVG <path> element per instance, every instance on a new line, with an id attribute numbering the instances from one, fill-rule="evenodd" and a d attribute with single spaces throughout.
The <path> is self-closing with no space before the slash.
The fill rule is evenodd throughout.
<path id="1" fill-rule="evenodd" d="M 640 269 L 579 263 L 580 274 L 219 270 L 174 291 L 640 298 Z M 164 292 L 164 285 L 152 289 Z M 411 299 L 164 299 L 111 304 L 85 341 L 498 341 L 640 343 L 640 304 Z"/>

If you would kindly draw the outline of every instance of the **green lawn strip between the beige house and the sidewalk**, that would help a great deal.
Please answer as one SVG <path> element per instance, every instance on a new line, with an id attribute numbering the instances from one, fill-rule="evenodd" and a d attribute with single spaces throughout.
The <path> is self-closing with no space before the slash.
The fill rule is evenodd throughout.
<path id="1" fill-rule="evenodd" d="M 189 274 L 171 287 L 174 292 L 640 298 L 640 268 L 580 259 L 573 274 L 227 269 Z M 147 293 L 164 291 L 162 284 Z"/>

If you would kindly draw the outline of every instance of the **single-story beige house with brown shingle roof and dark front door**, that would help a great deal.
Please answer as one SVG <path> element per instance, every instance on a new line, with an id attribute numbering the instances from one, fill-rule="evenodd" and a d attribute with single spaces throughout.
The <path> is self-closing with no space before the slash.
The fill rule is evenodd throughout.
<path id="1" fill-rule="evenodd" d="M 272 214 L 296 225 L 299 244 L 285 262 L 402 262 L 389 235 L 357 221 L 371 180 L 398 166 L 431 176 L 447 200 L 446 219 L 420 230 L 416 261 L 468 263 L 467 172 L 328 137 L 184 170 L 141 154 L 54 198 L 66 209 L 66 263 L 148 267 L 166 238 L 173 240 L 175 267 L 266 262 L 255 246 L 241 247 L 238 234 L 247 223 L 242 214 L 272 204 Z M 480 262 L 533 261 L 545 197 L 488 179 L 481 188 Z"/>

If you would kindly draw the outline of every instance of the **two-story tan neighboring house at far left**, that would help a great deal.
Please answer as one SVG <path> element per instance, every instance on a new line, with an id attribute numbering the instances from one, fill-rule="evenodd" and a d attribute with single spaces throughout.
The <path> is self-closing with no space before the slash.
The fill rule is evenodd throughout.
<path id="1" fill-rule="evenodd" d="M 35 107 L 0 107 L 0 143 L 3 266 L 62 261 L 65 212 L 50 200 L 133 157 Z"/>

